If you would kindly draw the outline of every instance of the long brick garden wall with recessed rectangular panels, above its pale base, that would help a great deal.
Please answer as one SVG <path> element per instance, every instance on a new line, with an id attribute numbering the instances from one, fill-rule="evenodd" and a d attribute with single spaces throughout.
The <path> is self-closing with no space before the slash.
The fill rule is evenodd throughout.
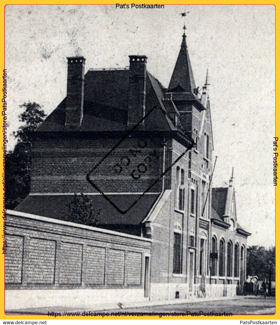
<path id="1" fill-rule="evenodd" d="M 14 214 L 7 216 L 6 289 L 143 287 L 149 239 Z"/>

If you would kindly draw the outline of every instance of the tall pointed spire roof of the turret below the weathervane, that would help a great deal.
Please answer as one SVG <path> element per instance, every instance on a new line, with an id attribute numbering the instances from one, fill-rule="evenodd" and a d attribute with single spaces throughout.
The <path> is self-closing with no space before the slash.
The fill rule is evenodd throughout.
<path id="1" fill-rule="evenodd" d="M 193 99 L 199 100 L 197 95 L 194 94 L 195 88 L 193 70 L 186 43 L 186 35 L 184 34 L 180 52 L 168 86 L 168 92 L 192 93 Z"/>

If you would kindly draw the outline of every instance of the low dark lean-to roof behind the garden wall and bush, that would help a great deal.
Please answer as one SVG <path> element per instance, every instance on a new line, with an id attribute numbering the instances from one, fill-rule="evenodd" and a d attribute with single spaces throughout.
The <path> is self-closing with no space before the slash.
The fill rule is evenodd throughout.
<path id="1" fill-rule="evenodd" d="M 139 194 L 108 195 L 120 209 L 127 209 L 131 202 L 139 198 Z M 159 194 L 146 194 L 126 214 L 122 215 L 101 195 L 89 195 L 93 206 L 100 208 L 101 224 L 138 225 L 148 214 Z M 67 221 L 67 203 L 73 195 L 29 195 L 15 210 Z"/>

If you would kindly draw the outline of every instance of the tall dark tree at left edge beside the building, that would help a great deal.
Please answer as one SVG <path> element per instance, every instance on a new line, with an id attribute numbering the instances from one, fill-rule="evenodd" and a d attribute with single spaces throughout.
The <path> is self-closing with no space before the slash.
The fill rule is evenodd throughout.
<path id="1" fill-rule="evenodd" d="M 22 202 L 30 191 L 31 181 L 31 132 L 43 122 L 46 114 L 37 103 L 24 103 L 20 108 L 24 111 L 18 116 L 23 123 L 13 135 L 17 139 L 14 150 L 5 157 L 5 192 L 6 207 L 14 209 Z"/>

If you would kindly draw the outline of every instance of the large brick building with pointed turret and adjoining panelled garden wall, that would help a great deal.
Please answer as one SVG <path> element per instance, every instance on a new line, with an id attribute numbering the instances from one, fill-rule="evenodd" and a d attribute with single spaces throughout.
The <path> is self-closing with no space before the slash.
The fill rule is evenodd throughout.
<path id="1" fill-rule="evenodd" d="M 67 96 L 33 134 L 31 193 L 8 211 L 9 308 L 69 290 L 80 303 L 108 302 L 108 290 L 122 301 L 242 292 L 250 234 L 233 175 L 211 186 L 209 84 L 199 95 L 185 33 L 168 88 L 144 55 L 86 74 L 84 57 L 67 59 Z M 74 193 L 100 211 L 98 228 L 67 220 Z"/>

